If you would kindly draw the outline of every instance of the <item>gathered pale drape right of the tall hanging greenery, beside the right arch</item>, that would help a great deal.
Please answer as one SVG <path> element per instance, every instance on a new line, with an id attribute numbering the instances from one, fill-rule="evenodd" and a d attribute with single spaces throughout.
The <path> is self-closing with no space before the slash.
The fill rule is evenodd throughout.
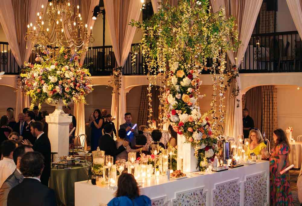
<path id="1" fill-rule="evenodd" d="M 210 3 L 214 12 L 217 12 L 220 8 L 225 8 L 226 18 L 229 18 L 230 16 L 236 18 L 239 39 L 242 44 L 239 45 L 237 52 L 227 51 L 227 55 L 231 64 L 236 65 L 238 68 L 252 36 L 257 16 L 262 5 L 262 0 L 211 0 Z M 233 89 L 236 88 L 236 84 L 239 87 L 239 95 L 237 98 L 241 100 L 242 93 L 240 91 L 239 77 L 236 77 L 236 83 L 232 82 L 229 89 L 230 91 L 233 91 Z M 236 99 L 229 98 L 226 111 L 225 134 L 237 139 L 238 135 L 243 133 L 242 104 L 239 103 L 239 107 L 237 107 Z"/>

